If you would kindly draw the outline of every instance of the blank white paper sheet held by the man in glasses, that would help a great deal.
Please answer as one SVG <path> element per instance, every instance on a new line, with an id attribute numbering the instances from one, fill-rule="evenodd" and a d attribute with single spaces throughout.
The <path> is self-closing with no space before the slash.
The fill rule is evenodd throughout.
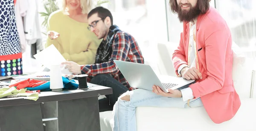
<path id="1" fill-rule="evenodd" d="M 62 62 L 66 61 L 54 45 L 50 45 L 49 47 L 35 54 L 34 57 L 48 69 L 51 69 L 51 65 L 61 65 Z M 65 69 L 65 65 L 61 65 L 61 73 L 72 74 L 68 69 Z"/>

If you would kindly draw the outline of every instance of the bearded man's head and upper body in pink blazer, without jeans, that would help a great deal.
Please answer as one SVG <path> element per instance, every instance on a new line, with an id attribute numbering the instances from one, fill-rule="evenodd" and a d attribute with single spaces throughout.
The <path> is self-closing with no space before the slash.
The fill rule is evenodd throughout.
<path id="1" fill-rule="evenodd" d="M 201 98 L 212 121 L 222 123 L 236 114 L 241 102 L 232 80 L 230 29 L 218 11 L 208 5 L 209 0 L 170 0 L 172 11 L 183 22 L 172 60 L 177 75 L 196 80 L 181 90 L 182 94 L 186 93 L 186 99 Z"/>

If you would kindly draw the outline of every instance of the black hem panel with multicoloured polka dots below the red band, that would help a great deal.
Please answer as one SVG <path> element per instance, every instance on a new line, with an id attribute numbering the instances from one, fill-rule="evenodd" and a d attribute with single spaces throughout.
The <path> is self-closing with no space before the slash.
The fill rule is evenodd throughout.
<path id="1" fill-rule="evenodd" d="M 22 59 L 13 59 L 1 61 L 0 76 L 7 75 L 21 75 L 22 72 Z"/>

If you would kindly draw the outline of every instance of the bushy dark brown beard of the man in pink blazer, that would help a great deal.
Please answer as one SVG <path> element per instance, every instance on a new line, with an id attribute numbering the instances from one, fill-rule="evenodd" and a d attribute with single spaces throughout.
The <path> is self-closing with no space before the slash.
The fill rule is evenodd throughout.
<path id="1" fill-rule="evenodd" d="M 198 3 L 196 4 L 195 7 L 192 7 L 191 4 L 189 4 L 188 6 L 190 6 L 189 10 L 182 10 L 181 9 L 182 4 L 179 5 L 179 11 L 178 11 L 178 18 L 180 20 L 180 22 L 183 21 L 194 21 L 198 15 L 200 14 L 200 10 L 198 9 Z"/>

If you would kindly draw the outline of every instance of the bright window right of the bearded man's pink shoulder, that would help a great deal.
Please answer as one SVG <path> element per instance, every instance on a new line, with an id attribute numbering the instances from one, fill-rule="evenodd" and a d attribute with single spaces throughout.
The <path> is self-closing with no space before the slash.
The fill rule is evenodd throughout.
<path id="1" fill-rule="evenodd" d="M 256 58 L 256 0 L 215 0 L 235 42 L 248 58 Z"/>

